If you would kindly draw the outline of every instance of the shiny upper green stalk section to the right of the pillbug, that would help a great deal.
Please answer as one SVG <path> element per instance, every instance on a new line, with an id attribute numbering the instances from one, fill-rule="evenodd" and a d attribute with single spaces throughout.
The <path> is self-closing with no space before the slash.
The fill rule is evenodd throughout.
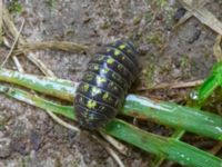
<path id="1" fill-rule="evenodd" d="M 199 109 L 129 95 L 121 114 L 222 140 L 222 117 Z"/>

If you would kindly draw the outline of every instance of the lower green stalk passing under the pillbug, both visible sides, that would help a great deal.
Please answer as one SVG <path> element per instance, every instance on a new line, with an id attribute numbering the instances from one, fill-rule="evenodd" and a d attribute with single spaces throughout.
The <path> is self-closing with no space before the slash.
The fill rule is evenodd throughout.
<path id="1" fill-rule="evenodd" d="M 51 110 L 54 114 L 60 114 L 75 120 L 74 109 L 71 107 L 53 104 L 21 89 L 7 86 L 0 85 L 0 92 L 29 105 L 40 107 L 44 110 Z M 191 145 L 147 132 L 120 119 L 111 120 L 101 130 L 148 153 L 165 157 L 167 159 L 178 161 L 184 166 L 219 167 L 222 164 L 222 159 Z"/>

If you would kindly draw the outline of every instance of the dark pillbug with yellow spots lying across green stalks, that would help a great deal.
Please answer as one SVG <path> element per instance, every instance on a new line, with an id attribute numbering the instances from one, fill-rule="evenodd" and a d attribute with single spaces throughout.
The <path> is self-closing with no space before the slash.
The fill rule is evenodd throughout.
<path id="1" fill-rule="evenodd" d="M 93 130 L 114 118 L 139 72 L 129 41 L 105 45 L 88 63 L 74 98 L 80 126 Z"/>

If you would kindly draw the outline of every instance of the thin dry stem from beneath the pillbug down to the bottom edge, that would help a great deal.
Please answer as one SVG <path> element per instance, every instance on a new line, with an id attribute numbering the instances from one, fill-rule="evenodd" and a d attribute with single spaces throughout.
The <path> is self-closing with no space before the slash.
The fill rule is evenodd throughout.
<path id="1" fill-rule="evenodd" d="M 107 150 L 107 151 L 112 156 L 112 158 L 117 161 L 117 164 L 119 165 L 119 167 L 124 167 L 124 165 L 123 165 L 122 160 L 120 159 L 120 157 L 118 156 L 118 154 L 117 154 L 112 148 L 110 148 L 110 146 L 109 146 L 105 141 L 99 139 L 99 138 L 98 138 L 97 136 L 94 136 L 94 135 L 92 135 L 92 137 L 93 137 L 95 140 L 98 140 L 98 143 L 100 143 L 100 145 L 102 145 L 102 146 L 105 148 L 105 150 Z"/>

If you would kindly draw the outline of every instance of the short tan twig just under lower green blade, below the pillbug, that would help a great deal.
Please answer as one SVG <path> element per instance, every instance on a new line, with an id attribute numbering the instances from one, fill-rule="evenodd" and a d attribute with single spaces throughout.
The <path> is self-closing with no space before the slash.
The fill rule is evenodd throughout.
<path id="1" fill-rule="evenodd" d="M 120 141 L 118 141 L 117 139 L 114 139 L 111 136 L 108 136 L 107 134 L 99 131 L 100 135 L 107 140 L 109 141 L 119 153 L 121 153 L 122 155 L 128 155 L 128 148 L 121 144 Z"/>

